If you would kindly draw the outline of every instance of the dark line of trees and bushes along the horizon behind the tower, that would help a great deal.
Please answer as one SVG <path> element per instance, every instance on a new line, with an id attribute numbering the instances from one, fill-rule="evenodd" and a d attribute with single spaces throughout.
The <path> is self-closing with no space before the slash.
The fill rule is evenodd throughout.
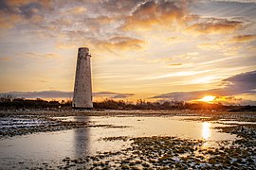
<path id="1" fill-rule="evenodd" d="M 184 102 L 184 101 L 156 101 L 149 102 L 139 99 L 137 102 L 124 100 L 105 99 L 100 102 L 94 102 L 94 109 L 101 110 L 256 110 L 255 106 L 224 106 L 221 103 L 210 104 L 206 102 Z M 72 109 L 72 100 L 46 101 L 41 98 L 26 99 L 13 98 L 11 96 L 0 97 L 1 110 L 70 110 Z"/>

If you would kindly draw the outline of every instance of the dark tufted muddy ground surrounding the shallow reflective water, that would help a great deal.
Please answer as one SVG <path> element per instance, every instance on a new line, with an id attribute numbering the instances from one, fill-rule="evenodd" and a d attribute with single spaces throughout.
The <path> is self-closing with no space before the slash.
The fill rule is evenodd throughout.
<path id="1" fill-rule="evenodd" d="M 131 137 L 124 133 L 106 134 L 100 138 L 101 144 L 122 143 L 129 144 L 128 147 L 121 148 L 119 151 L 101 151 L 94 155 L 84 155 L 74 157 L 72 154 L 65 155 L 58 161 L 25 161 L 26 158 L 19 158 L 16 162 L 7 160 L 3 167 L 21 168 L 43 168 L 43 169 L 69 169 L 69 168 L 114 168 L 114 169 L 160 169 L 160 168 L 181 168 L 181 169 L 201 169 L 217 168 L 230 169 L 249 167 L 255 168 L 256 157 L 254 156 L 256 138 L 256 112 L 229 112 L 229 111 L 189 111 L 189 110 L 0 110 L 1 134 L 0 141 L 3 143 L 9 140 L 19 139 L 37 133 L 36 136 L 46 135 L 49 132 L 62 130 L 82 129 L 86 134 L 86 129 L 99 130 L 118 130 L 125 131 L 129 127 L 125 126 L 121 120 L 129 117 L 137 121 L 143 121 L 141 117 L 151 119 L 173 119 L 173 116 L 180 116 L 181 121 L 195 121 L 203 125 L 217 121 L 250 122 L 250 124 L 235 124 L 229 126 L 212 127 L 220 133 L 236 135 L 234 141 L 220 141 L 215 147 L 205 148 L 207 140 L 198 140 L 177 137 L 172 135 L 165 136 L 137 136 Z M 73 117 L 74 116 L 74 117 Z M 101 116 L 101 117 L 94 117 Z M 182 118 L 184 116 L 184 118 Z M 91 118 L 90 118 L 91 117 Z M 118 119 L 118 125 L 101 122 L 98 124 L 91 119 L 104 118 Z M 155 118 L 154 118 L 155 117 Z M 82 119 L 81 119 L 82 118 Z M 66 121 L 65 121 L 66 120 Z M 3 124 L 3 122 L 5 122 Z M 252 123 L 253 122 L 253 123 Z M 143 122 L 142 122 L 143 123 Z M 218 124 L 220 124 L 218 123 Z M 17 125 L 17 126 L 16 126 Z M 152 125 L 152 124 L 151 124 Z M 4 128 L 3 128 L 4 127 Z M 210 127 L 209 127 L 210 129 Z M 33 136 L 33 135 L 31 135 Z M 76 138 L 77 144 L 87 144 L 84 138 Z M 55 144 L 55 142 L 52 142 Z M 100 143 L 99 143 L 100 144 Z M 83 148 L 83 147 L 82 147 Z M 83 150 L 85 151 L 85 150 Z M 9 159 L 11 156 L 9 157 Z M 11 159 L 10 159 L 11 160 Z"/>

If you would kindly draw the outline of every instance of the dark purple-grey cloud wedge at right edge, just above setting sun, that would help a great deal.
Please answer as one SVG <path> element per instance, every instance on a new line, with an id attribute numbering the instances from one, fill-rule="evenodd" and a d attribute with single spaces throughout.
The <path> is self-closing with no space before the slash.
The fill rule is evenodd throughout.
<path id="1" fill-rule="evenodd" d="M 152 98 L 189 101 L 202 98 L 205 95 L 232 96 L 245 93 L 254 94 L 256 90 L 256 70 L 230 76 L 229 78 L 223 79 L 222 84 L 223 88 L 193 92 L 162 93 Z"/>

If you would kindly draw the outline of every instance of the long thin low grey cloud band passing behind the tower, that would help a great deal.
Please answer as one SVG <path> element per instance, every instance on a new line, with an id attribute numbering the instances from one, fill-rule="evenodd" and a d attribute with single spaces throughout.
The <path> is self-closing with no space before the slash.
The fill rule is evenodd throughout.
<path id="1" fill-rule="evenodd" d="M 0 93 L 0 96 L 11 95 L 14 97 L 25 97 L 25 98 L 72 98 L 73 92 L 63 91 L 41 91 L 41 92 L 9 92 Z M 94 97 L 103 98 L 127 98 L 135 95 L 134 93 L 113 93 L 113 92 L 98 92 L 93 93 Z"/>

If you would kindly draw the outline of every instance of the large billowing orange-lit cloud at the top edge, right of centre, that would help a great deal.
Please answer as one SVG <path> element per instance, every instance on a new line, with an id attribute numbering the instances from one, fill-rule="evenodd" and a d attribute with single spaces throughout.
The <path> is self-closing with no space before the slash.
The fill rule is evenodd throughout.
<path id="1" fill-rule="evenodd" d="M 158 26 L 182 24 L 190 18 L 185 1 L 148 1 L 141 4 L 132 15 L 125 18 L 122 30 L 151 30 Z"/>

